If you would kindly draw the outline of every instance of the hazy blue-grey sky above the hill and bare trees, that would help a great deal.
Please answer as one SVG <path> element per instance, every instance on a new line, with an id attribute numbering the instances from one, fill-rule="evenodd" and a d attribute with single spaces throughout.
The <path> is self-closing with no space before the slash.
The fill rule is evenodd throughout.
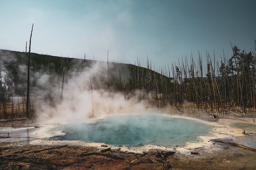
<path id="1" fill-rule="evenodd" d="M 230 41 L 249 51 L 256 39 L 256 1 L 235 0 L 0 0 L 0 49 L 155 67 L 181 56 L 230 57 Z"/>

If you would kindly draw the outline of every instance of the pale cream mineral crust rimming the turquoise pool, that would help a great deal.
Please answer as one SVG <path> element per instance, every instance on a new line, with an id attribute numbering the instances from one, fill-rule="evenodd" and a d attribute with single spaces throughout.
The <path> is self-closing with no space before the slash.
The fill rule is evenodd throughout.
<path id="1" fill-rule="evenodd" d="M 227 141 L 234 141 L 234 138 L 240 138 L 244 137 L 242 134 L 242 129 L 232 127 L 232 123 L 242 122 L 245 123 L 243 120 L 235 120 L 235 119 L 229 119 L 229 118 L 220 118 L 219 120 L 214 121 L 205 121 L 198 118 L 195 118 L 193 116 L 197 115 L 168 115 L 164 114 L 164 116 L 171 116 L 171 117 L 177 117 L 177 118 L 186 118 L 186 119 L 193 119 L 195 121 L 204 122 L 206 124 L 209 124 L 213 126 L 213 131 L 209 133 L 207 136 L 198 136 L 198 142 L 186 142 L 186 145 L 184 146 L 173 146 L 173 147 L 166 147 L 166 146 L 156 146 L 156 145 L 144 145 L 144 146 L 136 146 L 136 147 L 129 147 L 129 146 L 117 146 L 117 145 L 108 145 L 111 147 L 111 149 L 118 149 L 120 148 L 120 151 L 124 152 L 136 152 L 136 153 L 142 153 L 144 151 L 149 151 L 152 149 L 159 149 L 159 150 L 165 150 L 165 151 L 177 151 L 180 154 L 187 154 L 190 150 L 193 150 L 195 148 L 203 147 L 205 148 L 206 152 L 214 152 L 217 151 L 219 148 L 214 146 L 214 142 L 212 142 L 212 139 L 224 139 Z M 104 147 L 101 147 L 101 145 L 105 143 L 96 143 L 96 142 L 83 142 L 79 140 L 69 140 L 69 141 L 54 141 L 54 140 L 48 140 L 48 138 L 54 136 L 54 135 L 61 135 L 63 132 L 56 131 L 56 132 L 50 132 L 49 131 L 54 126 L 58 126 L 59 124 L 35 124 L 38 126 L 41 126 L 39 128 L 35 127 L 23 127 L 23 128 L 1 128 L 1 133 L 7 133 L 8 131 L 11 131 L 11 138 L 1 139 L 3 142 L 17 142 L 22 141 L 22 145 L 31 144 L 31 145 L 80 145 L 80 146 L 92 146 L 96 147 L 98 149 L 102 149 Z M 40 132 L 40 133 L 38 133 Z M 28 137 L 26 137 L 28 136 Z"/>

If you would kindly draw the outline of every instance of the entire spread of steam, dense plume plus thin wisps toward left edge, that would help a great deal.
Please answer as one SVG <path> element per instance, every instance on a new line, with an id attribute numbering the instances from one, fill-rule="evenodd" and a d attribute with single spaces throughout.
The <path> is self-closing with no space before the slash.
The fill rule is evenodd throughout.
<path id="1" fill-rule="evenodd" d="M 14 54 L 0 50 L 1 74 L 3 87 L 6 84 L 6 95 L 26 96 L 27 90 L 27 66 L 17 64 L 19 57 Z M 33 62 L 33 61 L 32 61 Z M 108 65 L 106 62 L 93 61 L 89 67 L 84 67 L 83 63 L 72 63 L 72 68 L 64 70 L 63 97 L 62 90 L 62 70 L 59 74 L 42 71 L 41 64 L 37 68 L 31 67 L 30 71 L 30 97 L 35 108 L 35 116 L 38 122 L 85 122 L 93 114 L 96 118 L 101 118 L 114 113 L 140 113 L 144 112 L 146 102 L 130 97 L 131 94 L 139 94 L 136 90 L 129 94 L 121 93 L 117 87 L 108 88 Z M 115 67 L 116 66 L 116 67 Z M 13 77 L 10 67 L 17 69 L 17 77 Z M 121 67 L 122 82 L 129 79 L 129 69 L 125 64 Z M 39 71 L 36 71 L 39 70 Z M 6 79 L 4 79 L 6 76 Z M 109 81 L 113 78 L 119 79 L 117 65 L 109 63 Z M 92 91 L 93 88 L 93 108 Z M 13 80 L 16 80 L 14 83 Z M 6 82 L 5 82 L 6 81 Z M 116 82 L 117 83 L 117 82 Z M 118 88 L 120 83 L 117 83 Z M 36 104 L 35 104 L 36 103 Z"/>

